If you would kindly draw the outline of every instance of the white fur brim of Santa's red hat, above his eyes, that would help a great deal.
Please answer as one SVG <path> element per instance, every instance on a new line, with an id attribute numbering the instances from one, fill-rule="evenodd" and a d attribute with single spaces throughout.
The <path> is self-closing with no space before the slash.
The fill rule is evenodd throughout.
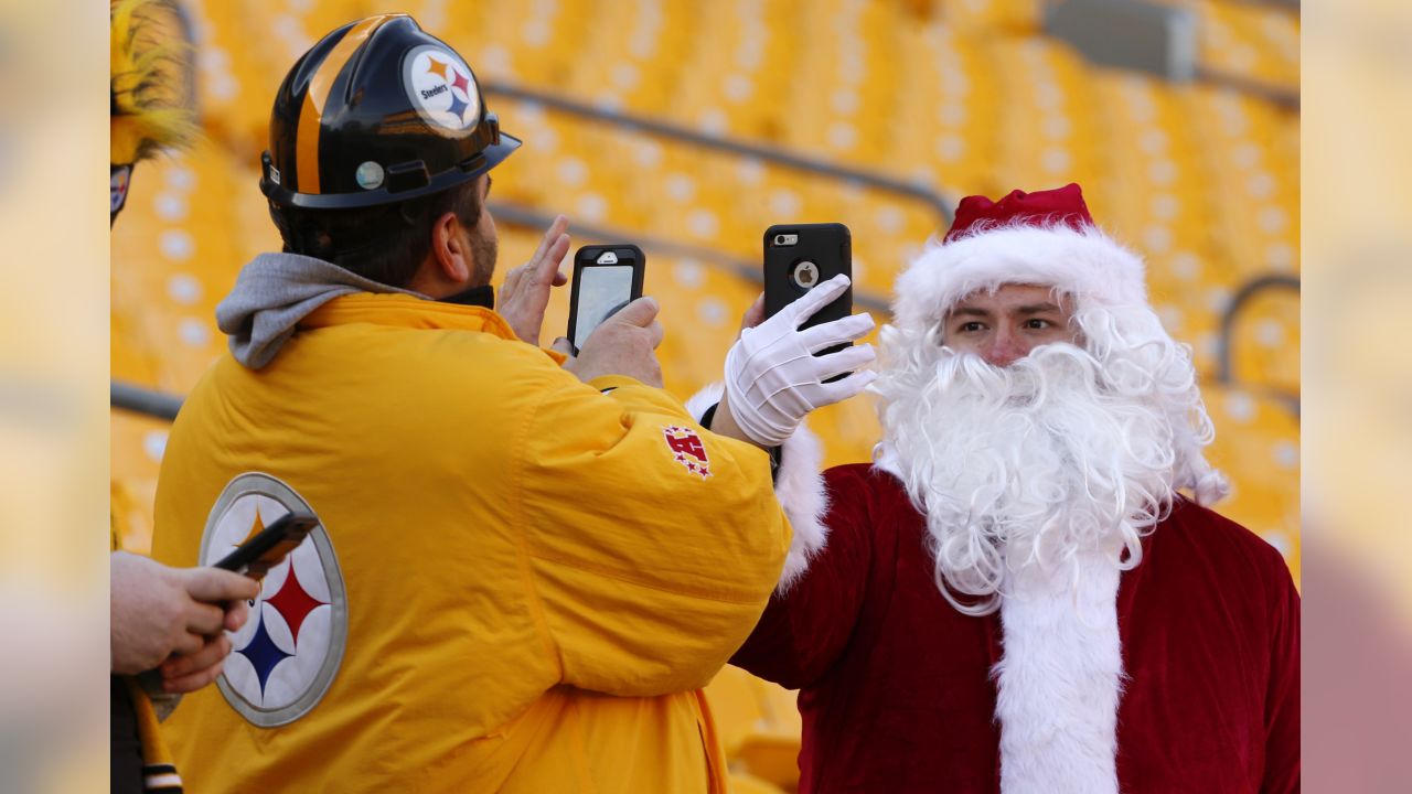
<path id="1" fill-rule="evenodd" d="M 1142 260 L 1093 226 L 1010 225 L 928 249 L 897 280 L 894 322 L 926 328 L 956 301 L 1001 284 L 1048 284 L 1106 305 L 1145 305 Z"/>

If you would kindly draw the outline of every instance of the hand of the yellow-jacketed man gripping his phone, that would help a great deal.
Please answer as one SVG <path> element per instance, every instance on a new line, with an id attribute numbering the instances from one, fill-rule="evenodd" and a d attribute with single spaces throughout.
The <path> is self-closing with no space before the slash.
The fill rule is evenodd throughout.
<path id="1" fill-rule="evenodd" d="M 638 298 L 604 319 L 583 342 L 578 357 L 563 363 L 579 380 L 587 383 L 604 374 L 626 374 L 648 386 L 662 387 L 662 366 L 657 346 L 662 343 L 661 307 L 655 298 Z M 569 340 L 556 339 L 554 348 L 569 353 Z"/>

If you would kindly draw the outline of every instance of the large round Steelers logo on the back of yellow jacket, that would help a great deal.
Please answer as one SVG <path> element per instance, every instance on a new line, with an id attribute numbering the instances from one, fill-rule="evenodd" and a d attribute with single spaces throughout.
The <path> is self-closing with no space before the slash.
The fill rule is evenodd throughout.
<path id="1" fill-rule="evenodd" d="M 237 476 L 206 520 L 201 562 L 230 554 L 285 513 L 316 516 L 278 479 L 258 472 Z M 220 694 L 261 728 L 299 719 L 333 684 L 347 646 L 347 620 L 343 574 L 319 524 L 265 574 L 250 619 L 230 634 L 233 650 L 216 680 Z"/>

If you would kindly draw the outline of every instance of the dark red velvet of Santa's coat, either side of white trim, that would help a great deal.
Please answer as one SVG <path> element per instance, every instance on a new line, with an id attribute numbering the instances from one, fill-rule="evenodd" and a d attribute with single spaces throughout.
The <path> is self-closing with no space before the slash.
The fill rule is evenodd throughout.
<path id="1" fill-rule="evenodd" d="M 799 689 L 802 793 L 997 793 L 1000 616 L 938 592 L 891 475 L 825 475 L 827 544 L 733 663 Z M 1179 500 L 1118 585 L 1124 794 L 1299 790 L 1299 593 L 1279 552 Z"/>

